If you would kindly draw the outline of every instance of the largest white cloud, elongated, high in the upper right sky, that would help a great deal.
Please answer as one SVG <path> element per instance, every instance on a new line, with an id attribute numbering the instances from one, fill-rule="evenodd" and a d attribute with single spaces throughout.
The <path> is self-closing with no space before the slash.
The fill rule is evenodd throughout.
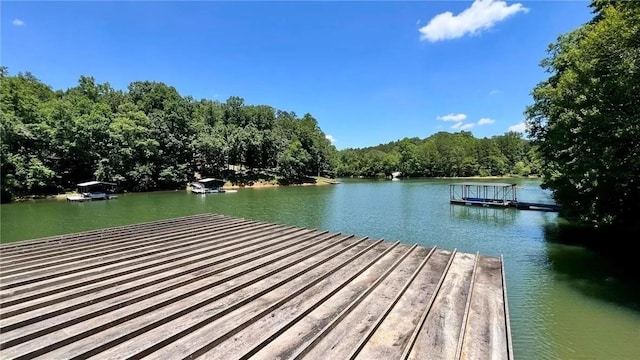
<path id="1" fill-rule="evenodd" d="M 420 40 L 436 42 L 463 37 L 467 34 L 475 35 L 482 30 L 493 27 L 519 12 L 529 9 L 520 3 L 507 5 L 502 0 L 475 0 L 470 8 L 458 15 L 450 11 L 436 15 L 429 23 L 420 28 Z"/>

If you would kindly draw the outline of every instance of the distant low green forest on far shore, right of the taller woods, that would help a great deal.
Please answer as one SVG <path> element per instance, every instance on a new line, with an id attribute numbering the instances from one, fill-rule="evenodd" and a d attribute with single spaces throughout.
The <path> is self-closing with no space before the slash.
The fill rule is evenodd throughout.
<path id="1" fill-rule="evenodd" d="M 540 165 L 535 149 L 520 133 L 479 139 L 461 131 L 341 150 L 336 170 L 339 176 L 366 177 L 394 171 L 409 177 L 528 176 L 537 174 Z"/>

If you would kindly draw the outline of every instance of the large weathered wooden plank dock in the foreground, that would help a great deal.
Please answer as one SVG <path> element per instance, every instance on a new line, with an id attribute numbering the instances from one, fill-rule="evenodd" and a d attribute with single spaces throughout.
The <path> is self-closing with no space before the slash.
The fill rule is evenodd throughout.
<path id="1" fill-rule="evenodd" d="M 2 359 L 512 359 L 501 258 L 204 214 L 0 246 Z"/>

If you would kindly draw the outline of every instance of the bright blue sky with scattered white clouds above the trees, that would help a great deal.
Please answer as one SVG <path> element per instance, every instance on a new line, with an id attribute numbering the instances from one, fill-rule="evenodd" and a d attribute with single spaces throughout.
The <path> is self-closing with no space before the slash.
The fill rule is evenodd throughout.
<path id="1" fill-rule="evenodd" d="M 588 1 L 2 1 L 11 74 L 311 113 L 338 149 L 523 131 L 549 43 Z"/>

